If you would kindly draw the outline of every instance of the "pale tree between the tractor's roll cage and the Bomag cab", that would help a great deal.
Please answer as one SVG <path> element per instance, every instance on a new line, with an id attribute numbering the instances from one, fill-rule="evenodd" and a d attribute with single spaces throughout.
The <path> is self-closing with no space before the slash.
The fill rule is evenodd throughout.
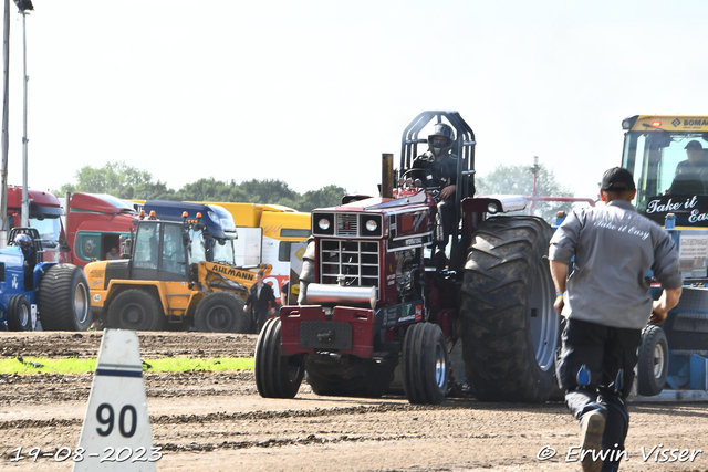
<path id="1" fill-rule="evenodd" d="M 531 166 L 498 166 L 486 176 L 475 179 L 477 196 L 481 195 L 521 195 L 529 197 L 533 193 L 533 170 Z M 539 197 L 573 197 L 573 192 L 562 187 L 555 180 L 553 170 L 545 166 L 539 166 L 537 172 L 535 195 Z M 528 213 L 531 203 L 527 209 L 518 213 Z M 549 222 L 555 221 L 559 210 L 569 212 L 572 209 L 570 202 L 538 202 L 533 213 Z"/>

